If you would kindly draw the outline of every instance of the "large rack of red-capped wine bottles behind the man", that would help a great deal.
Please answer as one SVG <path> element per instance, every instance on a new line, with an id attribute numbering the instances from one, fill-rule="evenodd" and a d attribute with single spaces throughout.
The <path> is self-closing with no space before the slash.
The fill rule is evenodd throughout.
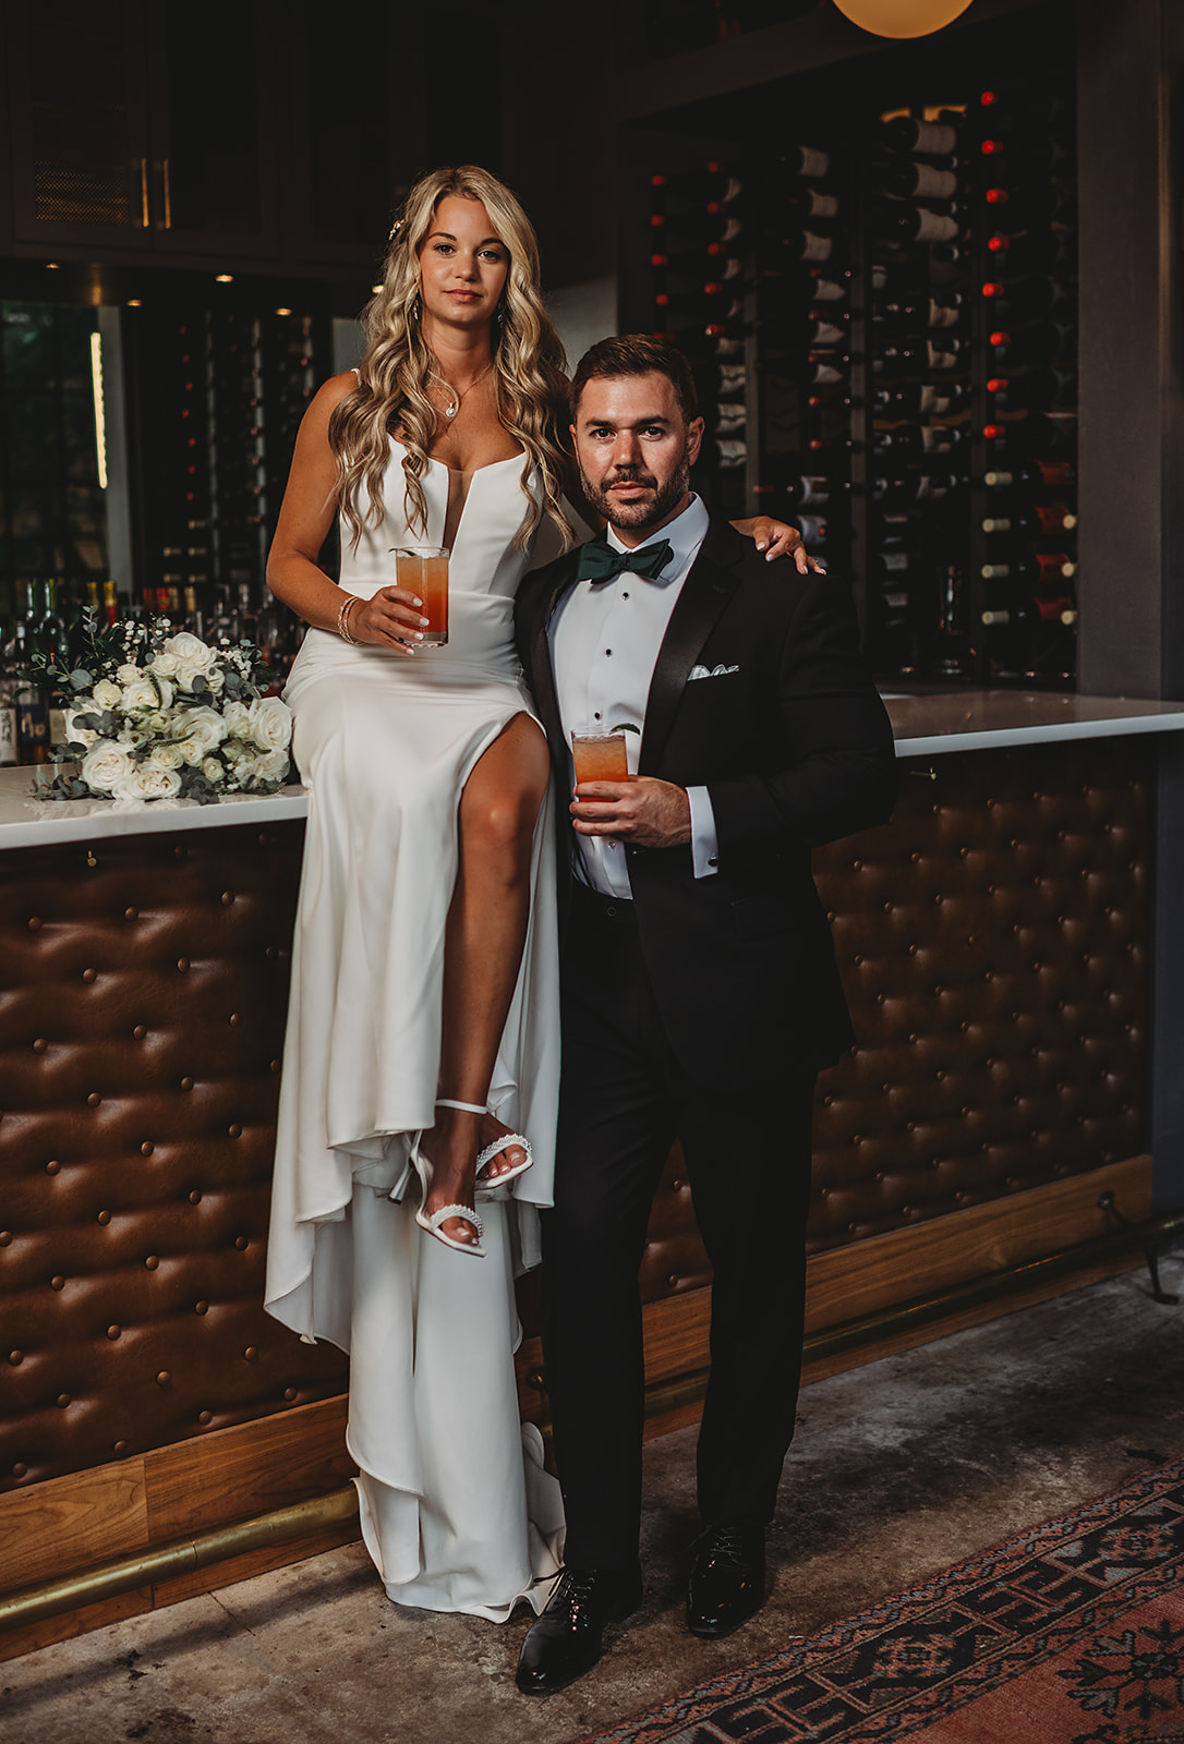
<path id="1" fill-rule="evenodd" d="M 708 426 L 696 488 L 729 516 L 797 520 L 853 577 L 881 678 L 1069 689 L 1065 38 L 1029 58 L 959 66 L 931 51 L 891 66 L 842 94 L 736 105 L 724 148 L 717 106 L 710 155 L 696 162 L 684 140 L 677 169 L 650 164 L 649 272 L 626 324 L 694 361 Z"/>

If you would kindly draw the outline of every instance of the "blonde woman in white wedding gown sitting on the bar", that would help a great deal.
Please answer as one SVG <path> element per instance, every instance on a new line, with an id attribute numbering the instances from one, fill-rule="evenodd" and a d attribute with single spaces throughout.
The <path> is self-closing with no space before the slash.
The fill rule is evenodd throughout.
<path id="1" fill-rule="evenodd" d="M 350 1355 L 389 1596 L 500 1620 L 542 1608 L 563 1526 L 513 1367 L 558 1097 L 551 766 L 513 603 L 574 539 L 563 351 L 502 183 L 417 183 L 366 337 L 305 413 L 267 569 L 310 626 L 284 692 L 309 825 L 267 1306 Z M 450 549 L 443 647 L 394 586 L 406 544 Z"/>

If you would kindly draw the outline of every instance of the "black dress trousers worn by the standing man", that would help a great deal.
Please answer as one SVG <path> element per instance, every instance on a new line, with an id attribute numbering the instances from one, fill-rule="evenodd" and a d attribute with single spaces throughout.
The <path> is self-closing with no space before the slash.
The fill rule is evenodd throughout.
<path id="1" fill-rule="evenodd" d="M 645 1395 L 638 1268 L 675 1135 L 713 1270 L 711 1378 L 697 1448 L 704 1523 L 772 1519 L 802 1364 L 814 1074 L 779 1066 L 743 1087 L 689 1076 L 666 1039 L 628 912 L 628 903 L 577 888 L 563 950 L 542 1345 L 574 1568 L 636 1564 Z M 720 1018 L 704 1013 L 704 1022 Z"/>

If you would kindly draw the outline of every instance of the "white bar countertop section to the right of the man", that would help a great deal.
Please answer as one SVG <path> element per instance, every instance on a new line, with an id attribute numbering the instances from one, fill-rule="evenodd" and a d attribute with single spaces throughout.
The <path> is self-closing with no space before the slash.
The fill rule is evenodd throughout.
<path id="1" fill-rule="evenodd" d="M 942 696 L 884 692 L 898 757 L 987 752 L 1057 739 L 1113 739 L 1184 731 L 1184 703 L 1055 691 L 961 691 Z"/>

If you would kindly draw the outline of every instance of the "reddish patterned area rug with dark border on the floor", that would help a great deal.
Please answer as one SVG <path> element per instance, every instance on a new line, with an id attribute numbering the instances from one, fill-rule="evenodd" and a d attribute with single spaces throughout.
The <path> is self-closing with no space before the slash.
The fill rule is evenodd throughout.
<path id="1" fill-rule="evenodd" d="M 579 1744 L 1184 1744 L 1184 1460 Z"/>

